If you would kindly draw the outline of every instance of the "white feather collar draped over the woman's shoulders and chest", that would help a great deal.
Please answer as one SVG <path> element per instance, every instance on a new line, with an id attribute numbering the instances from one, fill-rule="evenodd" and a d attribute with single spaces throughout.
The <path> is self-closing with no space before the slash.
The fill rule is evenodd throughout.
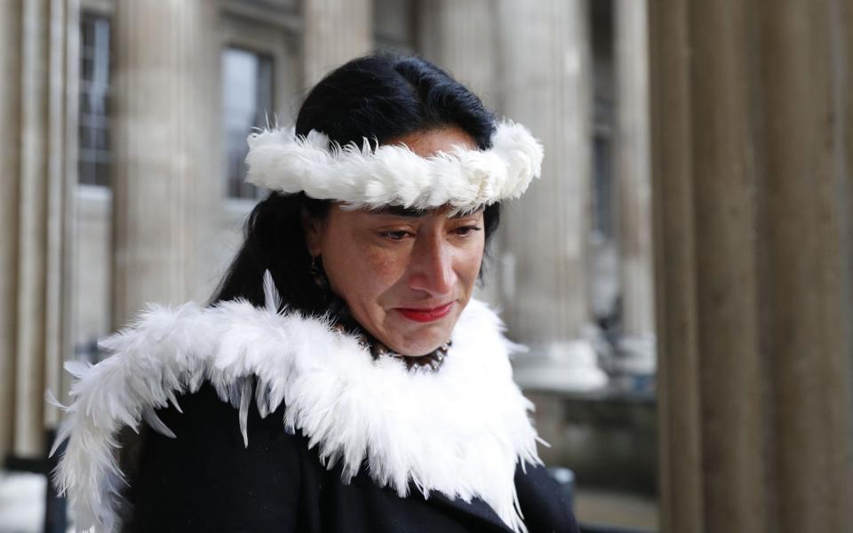
<path id="1" fill-rule="evenodd" d="M 327 321 L 280 314 L 275 305 L 150 306 L 101 343 L 110 357 L 67 363 L 76 383 L 54 445 L 68 440 L 54 482 L 68 493 L 78 529 L 115 529 L 124 484 L 119 430 L 144 419 L 174 436 L 155 410 L 178 407 L 179 394 L 206 380 L 239 407 L 244 439 L 252 398 L 261 416 L 284 402 L 285 429 L 307 435 L 330 468 L 341 461 L 343 481 L 366 460 L 371 479 L 401 497 L 410 481 L 426 497 L 480 497 L 507 526 L 525 531 L 514 472 L 519 462 L 541 461 L 527 412 L 533 405 L 508 360 L 519 346 L 502 331 L 498 316 L 471 300 L 442 368 L 419 373 L 394 358 L 374 361 Z"/>

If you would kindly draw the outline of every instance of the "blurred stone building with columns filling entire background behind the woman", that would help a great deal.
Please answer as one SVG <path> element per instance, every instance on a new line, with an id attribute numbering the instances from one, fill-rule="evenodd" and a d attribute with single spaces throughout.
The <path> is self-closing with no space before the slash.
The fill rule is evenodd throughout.
<path id="1" fill-rule="evenodd" d="M 0 44 L 0 513 L 61 362 L 210 298 L 251 129 L 393 49 L 545 144 L 478 296 L 581 521 L 853 529 L 849 2 L 3 0 Z"/>

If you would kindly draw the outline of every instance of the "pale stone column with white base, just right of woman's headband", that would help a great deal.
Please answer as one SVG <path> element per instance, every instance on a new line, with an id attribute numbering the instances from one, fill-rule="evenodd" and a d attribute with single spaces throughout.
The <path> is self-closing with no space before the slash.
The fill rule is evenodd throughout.
<path id="1" fill-rule="evenodd" d="M 592 76 L 586 0 L 498 3 L 500 111 L 545 145 L 543 177 L 502 212 L 503 301 L 509 330 L 544 360 L 522 386 L 600 386 L 592 347 L 586 243 L 592 158 Z"/>

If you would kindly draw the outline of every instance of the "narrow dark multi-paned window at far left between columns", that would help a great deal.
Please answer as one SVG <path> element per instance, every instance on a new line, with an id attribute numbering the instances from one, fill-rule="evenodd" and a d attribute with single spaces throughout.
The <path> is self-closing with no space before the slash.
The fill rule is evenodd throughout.
<path id="1" fill-rule="evenodd" d="M 80 183 L 109 186 L 109 19 L 84 13 L 80 45 L 77 172 Z"/>

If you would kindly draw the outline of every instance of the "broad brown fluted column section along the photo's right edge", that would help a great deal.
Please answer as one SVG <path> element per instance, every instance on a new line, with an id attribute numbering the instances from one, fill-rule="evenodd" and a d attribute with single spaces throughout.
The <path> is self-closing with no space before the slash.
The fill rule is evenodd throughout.
<path id="1" fill-rule="evenodd" d="M 841 40 L 853 18 L 849 2 L 757 5 L 768 507 L 778 521 L 768 525 L 853 530 L 853 168 L 842 163 L 853 135 L 853 47 Z"/>

